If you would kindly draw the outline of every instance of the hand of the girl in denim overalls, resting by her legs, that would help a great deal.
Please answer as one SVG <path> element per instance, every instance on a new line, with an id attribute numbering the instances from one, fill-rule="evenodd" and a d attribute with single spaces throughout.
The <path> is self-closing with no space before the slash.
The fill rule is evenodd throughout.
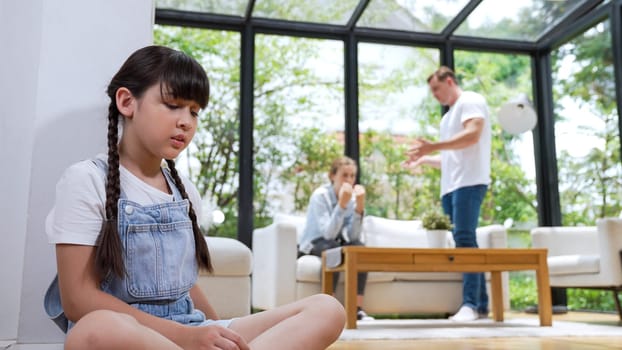
<path id="1" fill-rule="evenodd" d="M 250 350 L 242 336 L 221 326 L 185 327 L 185 350 Z"/>

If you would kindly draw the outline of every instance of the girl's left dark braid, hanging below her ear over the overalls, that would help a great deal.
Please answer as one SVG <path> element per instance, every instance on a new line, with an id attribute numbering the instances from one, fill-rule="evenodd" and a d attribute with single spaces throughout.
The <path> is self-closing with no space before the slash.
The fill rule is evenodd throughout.
<path id="1" fill-rule="evenodd" d="M 106 217 L 97 237 L 95 266 L 103 278 L 110 272 L 119 277 L 125 275 L 123 249 L 119 237 L 117 219 L 118 202 L 121 193 L 119 180 L 119 110 L 116 103 L 108 106 L 108 172 L 106 175 Z"/>

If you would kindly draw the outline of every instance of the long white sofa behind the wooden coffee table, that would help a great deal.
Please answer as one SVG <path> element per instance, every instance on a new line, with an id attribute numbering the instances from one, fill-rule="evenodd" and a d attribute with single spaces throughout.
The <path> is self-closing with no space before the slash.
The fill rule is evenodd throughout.
<path id="1" fill-rule="evenodd" d="M 271 309 L 321 292 L 320 258 L 296 258 L 304 222 L 304 217 L 277 215 L 272 224 L 253 232 L 254 308 Z M 363 237 L 365 244 L 372 247 L 427 247 L 426 234 L 418 220 L 366 216 Z M 449 233 L 447 240 L 450 246 L 454 245 Z M 506 230 L 501 225 L 478 228 L 477 241 L 481 248 L 505 248 Z M 502 280 L 503 305 L 509 309 L 507 273 L 503 273 Z M 342 281 L 337 297 L 343 300 Z M 373 314 L 450 314 L 457 311 L 461 302 L 460 273 L 370 272 L 363 307 Z"/>

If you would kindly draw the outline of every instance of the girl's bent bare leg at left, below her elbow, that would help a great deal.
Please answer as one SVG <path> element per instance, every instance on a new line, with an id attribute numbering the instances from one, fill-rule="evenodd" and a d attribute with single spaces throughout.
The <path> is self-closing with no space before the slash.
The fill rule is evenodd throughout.
<path id="1" fill-rule="evenodd" d="M 93 311 L 78 321 L 67 334 L 65 350 L 178 350 L 160 333 L 147 328 L 130 315 Z"/>

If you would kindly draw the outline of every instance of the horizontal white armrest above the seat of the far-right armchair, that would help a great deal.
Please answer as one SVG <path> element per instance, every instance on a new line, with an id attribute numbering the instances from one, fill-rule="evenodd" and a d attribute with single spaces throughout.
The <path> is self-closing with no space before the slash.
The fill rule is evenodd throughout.
<path id="1" fill-rule="evenodd" d="M 531 246 L 547 248 L 548 256 L 596 255 L 596 226 L 551 226 L 531 230 Z"/>

